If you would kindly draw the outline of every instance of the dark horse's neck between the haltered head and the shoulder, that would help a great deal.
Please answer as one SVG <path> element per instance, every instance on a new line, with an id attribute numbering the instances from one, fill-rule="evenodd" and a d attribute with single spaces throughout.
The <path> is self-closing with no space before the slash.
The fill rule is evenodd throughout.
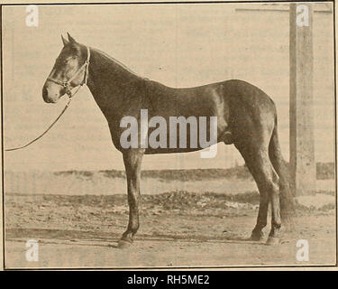
<path id="1" fill-rule="evenodd" d="M 133 86 L 141 77 L 101 51 L 90 49 L 90 55 L 87 86 L 104 113 L 116 112 L 128 99 L 137 97 Z"/>

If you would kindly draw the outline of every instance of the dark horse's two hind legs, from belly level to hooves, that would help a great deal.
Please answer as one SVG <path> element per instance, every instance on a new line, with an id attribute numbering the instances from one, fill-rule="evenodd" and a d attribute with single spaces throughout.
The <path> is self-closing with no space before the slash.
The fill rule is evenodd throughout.
<path id="1" fill-rule="evenodd" d="M 235 144 L 248 166 L 260 191 L 260 209 L 257 223 L 251 233 L 251 239 L 263 237 L 262 228 L 267 225 L 269 200 L 272 208 L 272 228 L 269 239 L 278 238 L 281 226 L 279 209 L 279 176 L 269 160 L 268 145 Z"/>

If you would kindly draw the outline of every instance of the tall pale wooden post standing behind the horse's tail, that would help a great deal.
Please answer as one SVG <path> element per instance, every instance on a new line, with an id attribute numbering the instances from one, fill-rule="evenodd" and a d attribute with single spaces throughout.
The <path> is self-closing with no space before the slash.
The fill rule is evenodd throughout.
<path id="1" fill-rule="evenodd" d="M 313 7 L 290 4 L 290 169 L 296 194 L 315 192 Z"/>

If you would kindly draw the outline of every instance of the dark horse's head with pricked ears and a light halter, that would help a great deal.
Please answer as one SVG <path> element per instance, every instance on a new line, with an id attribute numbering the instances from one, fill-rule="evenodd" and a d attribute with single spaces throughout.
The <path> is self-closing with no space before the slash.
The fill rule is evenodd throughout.
<path id="1" fill-rule="evenodd" d="M 70 96 L 71 89 L 87 81 L 89 50 L 69 33 L 68 36 L 68 41 L 61 36 L 63 48 L 43 85 L 42 98 L 45 102 L 56 103 L 64 94 Z"/>

